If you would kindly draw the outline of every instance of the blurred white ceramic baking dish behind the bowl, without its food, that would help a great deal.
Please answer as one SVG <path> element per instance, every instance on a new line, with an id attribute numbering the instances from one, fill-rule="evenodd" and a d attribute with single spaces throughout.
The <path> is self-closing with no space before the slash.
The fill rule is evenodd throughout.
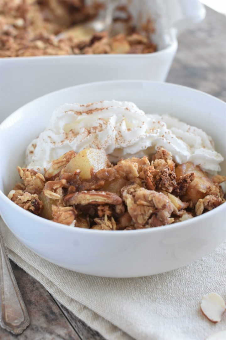
<path id="1" fill-rule="evenodd" d="M 120 79 L 165 81 L 178 33 L 202 20 L 205 8 L 199 0 L 131 0 L 129 8 L 136 23 L 150 15 L 155 19 L 152 40 L 157 52 L 0 58 L 0 122 L 26 102 L 67 86 Z"/>

